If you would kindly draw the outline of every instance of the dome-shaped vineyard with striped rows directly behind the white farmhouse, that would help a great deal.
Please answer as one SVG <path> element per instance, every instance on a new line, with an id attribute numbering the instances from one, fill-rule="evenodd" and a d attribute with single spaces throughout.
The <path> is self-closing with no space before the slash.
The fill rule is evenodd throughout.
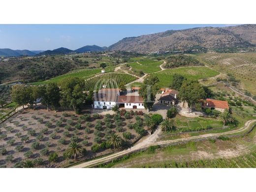
<path id="1" fill-rule="evenodd" d="M 120 83 L 128 84 L 137 77 L 126 73 L 105 73 L 86 80 L 86 90 L 99 90 L 103 85 L 106 88 L 118 88 Z"/>

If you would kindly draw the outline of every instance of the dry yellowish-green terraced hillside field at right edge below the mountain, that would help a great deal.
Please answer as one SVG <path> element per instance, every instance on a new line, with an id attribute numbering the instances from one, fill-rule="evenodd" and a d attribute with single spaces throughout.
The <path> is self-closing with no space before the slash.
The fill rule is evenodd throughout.
<path id="1" fill-rule="evenodd" d="M 198 56 L 220 72 L 231 73 L 241 81 L 241 89 L 256 95 L 256 53 L 211 53 Z"/>

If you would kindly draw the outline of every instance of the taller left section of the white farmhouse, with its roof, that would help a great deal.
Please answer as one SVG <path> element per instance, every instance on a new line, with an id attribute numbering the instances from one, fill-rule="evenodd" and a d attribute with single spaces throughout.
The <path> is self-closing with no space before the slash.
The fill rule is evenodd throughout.
<path id="1" fill-rule="evenodd" d="M 112 107 L 117 105 L 119 96 L 119 89 L 101 89 L 94 96 L 94 108 L 112 109 Z"/>

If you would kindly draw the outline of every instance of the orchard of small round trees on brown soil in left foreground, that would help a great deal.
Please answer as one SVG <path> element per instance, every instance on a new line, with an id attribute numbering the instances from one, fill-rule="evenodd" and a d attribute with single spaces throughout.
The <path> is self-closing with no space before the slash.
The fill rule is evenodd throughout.
<path id="1" fill-rule="evenodd" d="M 143 124 L 143 119 L 143 116 L 76 115 L 71 111 L 56 113 L 42 106 L 35 110 L 26 109 L 0 125 L 0 152 L 6 150 L 0 155 L 0 166 L 19 167 L 23 160 L 28 159 L 35 160 L 36 167 L 67 166 L 74 162 L 64 159 L 64 152 L 71 141 L 86 149 L 86 154 L 80 158 L 83 161 L 113 153 L 113 149 L 103 145 L 110 135 L 117 133 L 124 138 L 123 133 L 129 132 L 130 137 L 125 140 L 131 143 L 139 134 L 128 126 L 135 122 Z M 100 146 L 96 152 L 92 151 L 95 144 Z M 53 152 L 58 154 L 58 159 L 49 162 L 49 154 Z"/>

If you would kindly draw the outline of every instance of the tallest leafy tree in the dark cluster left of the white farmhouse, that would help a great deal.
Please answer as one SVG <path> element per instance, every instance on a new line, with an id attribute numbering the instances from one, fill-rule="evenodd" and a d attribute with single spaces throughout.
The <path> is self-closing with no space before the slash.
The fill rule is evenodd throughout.
<path id="1" fill-rule="evenodd" d="M 61 87 L 61 106 L 71 107 L 76 114 L 81 112 L 86 95 L 85 81 L 78 77 L 69 77 L 60 82 Z"/>

